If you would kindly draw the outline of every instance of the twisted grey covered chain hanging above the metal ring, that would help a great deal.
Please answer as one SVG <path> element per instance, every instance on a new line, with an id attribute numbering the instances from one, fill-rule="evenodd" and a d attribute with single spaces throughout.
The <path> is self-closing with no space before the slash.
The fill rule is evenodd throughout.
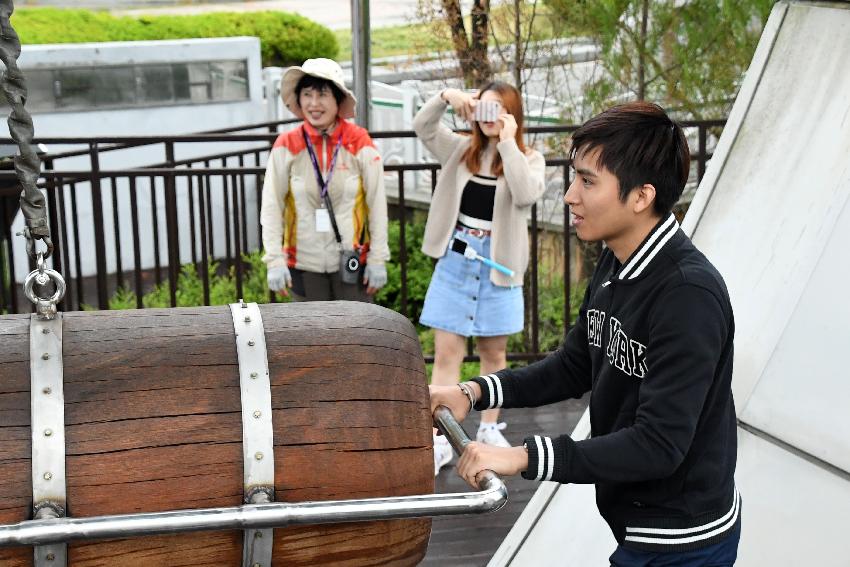
<path id="1" fill-rule="evenodd" d="M 32 146 L 32 117 L 24 108 L 27 87 L 24 74 L 18 68 L 21 42 L 9 21 L 14 10 L 12 0 L 0 0 L 0 60 L 6 65 L 0 79 L 0 89 L 12 109 L 9 114 L 9 132 L 20 149 L 20 153 L 15 156 L 15 172 L 23 188 L 21 211 L 27 225 L 23 232 L 27 238 L 27 253 L 35 258 L 35 241 L 41 239 L 47 245 L 44 257 L 49 258 L 53 253 L 53 241 L 50 239 L 47 207 L 44 195 L 36 187 L 41 172 L 41 159 Z"/>

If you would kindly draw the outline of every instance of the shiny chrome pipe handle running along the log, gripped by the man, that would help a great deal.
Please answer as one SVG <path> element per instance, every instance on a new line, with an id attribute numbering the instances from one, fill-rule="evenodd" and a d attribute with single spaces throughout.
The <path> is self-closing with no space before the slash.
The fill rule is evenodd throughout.
<path id="1" fill-rule="evenodd" d="M 434 423 L 455 450 L 462 453 L 470 439 L 451 412 L 442 406 L 437 408 Z M 508 500 L 505 483 L 490 471 L 484 471 L 479 478 L 480 491 L 470 493 L 326 502 L 272 502 L 90 518 L 28 520 L 0 526 L 0 547 L 207 530 L 281 528 L 305 524 L 481 514 L 494 512 L 504 506 Z"/>

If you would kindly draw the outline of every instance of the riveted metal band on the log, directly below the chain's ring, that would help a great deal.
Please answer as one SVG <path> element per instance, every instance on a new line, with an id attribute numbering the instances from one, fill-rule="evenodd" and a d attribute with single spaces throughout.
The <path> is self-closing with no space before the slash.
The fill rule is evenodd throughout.
<path id="1" fill-rule="evenodd" d="M 65 396 L 62 370 L 62 314 L 30 316 L 30 409 L 32 501 L 35 519 L 65 516 Z M 36 567 L 64 566 L 65 543 L 34 548 Z"/>

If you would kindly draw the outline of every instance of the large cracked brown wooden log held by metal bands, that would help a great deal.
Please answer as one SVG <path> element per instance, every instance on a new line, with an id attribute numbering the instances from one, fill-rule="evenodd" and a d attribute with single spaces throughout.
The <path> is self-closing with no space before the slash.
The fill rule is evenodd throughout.
<path id="1" fill-rule="evenodd" d="M 418 338 L 404 317 L 350 302 L 260 306 L 275 498 L 434 490 Z M 0 317 L 0 523 L 32 518 L 30 319 Z M 240 381 L 227 306 L 64 314 L 71 517 L 243 503 Z M 429 519 L 276 529 L 274 565 L 415 565 Z M 241 565 L 242 532 L 69 545 L 73 566 Z M 31 565 L 32 548 L 0 549 Z"/>

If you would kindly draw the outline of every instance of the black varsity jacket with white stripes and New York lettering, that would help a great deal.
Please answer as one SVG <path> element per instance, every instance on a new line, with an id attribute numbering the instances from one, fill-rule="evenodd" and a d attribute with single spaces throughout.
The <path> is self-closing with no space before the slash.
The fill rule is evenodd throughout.
<path id="1" fill-rule="evenodd" d="M 594 483 L 599 511 L 626 547 L 712 545 L 741 514 L 734 332 L 723 278 L 671 214 L 625 263 L 602 254 L 557 351 L 475 378 L 475 408 L 535 407 L 590 391 L 590 438 L 527 438 L 523 476 Z"/>

